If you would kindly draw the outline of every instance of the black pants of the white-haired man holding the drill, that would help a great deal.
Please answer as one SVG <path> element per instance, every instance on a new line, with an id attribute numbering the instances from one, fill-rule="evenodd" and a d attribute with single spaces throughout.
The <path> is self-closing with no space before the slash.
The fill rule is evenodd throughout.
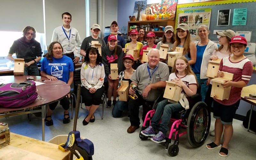
<path id="1" fill-rule="evenodd" d="M 154 101 L 146 101 L 142 98 L 142 96 L 136 92 L 138 98 L 136 100 L 129 100 L 129 111 L 130 111 L 130 122 L 131 125 L 139 126 L 140 125 L 140 117 L 139 117 L 139 110 L 140 106 L 142 105 L 143 114 L 142 114 L 142 121 L 144 121 L 146 114 L 148 111 L 152 110 Z"/>

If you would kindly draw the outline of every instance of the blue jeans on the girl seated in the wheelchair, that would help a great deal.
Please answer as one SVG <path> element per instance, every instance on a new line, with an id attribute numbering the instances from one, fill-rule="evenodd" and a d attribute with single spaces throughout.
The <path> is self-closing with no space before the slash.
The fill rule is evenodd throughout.
<path id="1" fill-rule="evenodd" d="M 159 131 L 163 132 L 164 135 L 166 135 L 166 132 L 168 131 L 169 123 L 172 117 L 172 113 L 178 112 L 182 110 L 183 107 L 180 105 L 180 103 L 170 103 L 168 102 L 168 99 L 162 100 L 159 102 L 156 106 L 156 113 L 154 114 L 152 121 L 151 121 L 151 127 L 153 127 L 154 130 L 158 127 L 159 121 L 161 120 L 161 116 L 163 114 L 162 121 L 160 123 Z"/>

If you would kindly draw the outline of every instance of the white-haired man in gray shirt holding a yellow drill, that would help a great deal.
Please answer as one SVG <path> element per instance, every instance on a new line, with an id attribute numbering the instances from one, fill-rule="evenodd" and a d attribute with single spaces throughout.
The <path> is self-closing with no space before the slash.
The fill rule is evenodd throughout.
<path id="1" fill-rule="evenodd" d="M 159 62 L 160 53 L 158 49 L 151 49 L 148 52 L 148 63 L 140 65 L 131 77 L 133 85 L 137 86 L 138 91 L 134 91 L 131 87 L 129 94 L 137 94 L 137 99 L 129 101 L 130 122 L 131 126 L 127 129 L 128 133 L 133 133 L 140 127 L 139 109 L 142 105 L 143 115 L 142 120 L 149 110 L 152 109 L 152 104 L 157 99 L 163 90 L 157 89 L 166 86 L 169 76 L 169 68 Z"/>

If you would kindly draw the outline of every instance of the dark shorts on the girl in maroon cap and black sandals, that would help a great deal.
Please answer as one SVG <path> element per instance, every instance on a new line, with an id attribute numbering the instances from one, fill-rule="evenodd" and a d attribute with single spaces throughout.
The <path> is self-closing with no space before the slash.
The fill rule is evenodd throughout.
<path id="1" fill-rule="evenodd" d="M 235 104 L 226 106 L 213 100 L 213 117 L 220 119 L 222 124 L 232 124 L 233 118 L 236 114 L 236 109 L 240 104 L 238 100 Z"/>

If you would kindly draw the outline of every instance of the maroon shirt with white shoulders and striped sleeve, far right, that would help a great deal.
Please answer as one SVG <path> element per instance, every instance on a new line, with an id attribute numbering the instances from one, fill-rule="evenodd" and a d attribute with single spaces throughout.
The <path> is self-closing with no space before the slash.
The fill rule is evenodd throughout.
<path id="1" fill-rule="evenodd" d="M 253 71 L 252 62 L 247 58 L 244 58 L 243 60 L 240 60 L 238 62 L 232 62 L 230 60 L 230 57 L 224 57 L 220 61 L 219 72 L 220 71 L 233 73 L 234 74 L 234 77 L 232 80 L 233 82 L 244 81 L 246 84 L 248 84 L 249 80 L 251 79 L 252 71 Z M 213 99 L 219 102 L 220 104 L 227 105 L 227 106 L 235 104 L 238 100 L 241 99 L 242 89 L 243 89 L 242 87 L 238 88 L 238 87 L 231 86 L 228 100 L 217 100 L 215 98 Z"/>

